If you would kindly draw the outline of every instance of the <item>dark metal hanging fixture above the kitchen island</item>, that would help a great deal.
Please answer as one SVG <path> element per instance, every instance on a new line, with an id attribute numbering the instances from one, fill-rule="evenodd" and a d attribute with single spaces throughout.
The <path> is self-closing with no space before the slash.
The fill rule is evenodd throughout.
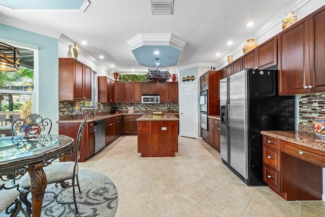
<path id="1" fill-rule="evenodd" d="M 156 64 L 148 69 L 147 82 L 167 82 L 171 78 L 169 69 L 161 66 L 158 60 L 159 58 L 156 58 Z"/>

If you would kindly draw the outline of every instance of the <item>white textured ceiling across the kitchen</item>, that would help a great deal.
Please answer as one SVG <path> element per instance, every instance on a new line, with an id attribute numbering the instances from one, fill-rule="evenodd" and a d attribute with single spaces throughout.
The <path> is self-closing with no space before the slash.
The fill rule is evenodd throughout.
<path id="1" fill-rule="evenodd" d="M 27 13 L 0 5 L 0 15 L 63 33 L 93 56 L 105 56 L 101 61 L 112 71 L 130 72 L 134 68 L 136 72 L 147 72 L 148 67 L 139 65 L 126 42 L 139 33 L 172 33 L 184 39 L 187 43 L 177 67 L 197 63 L 211 66 L 232 54 L 229 52 L 234 47 L 294 2 L 297 1 L 175 0 L 173 15 L 152 15 L 149 0 L 93 0 L 83 13 Z M 285 12 L 281 14 L 284 16 Z M 248 21 L 255 25 L 245 27 Z M 234 43 L 227 45 L 229 40 Z M 89 44 L 82 45 L 82 41 Z M 217 52 L 221 55 L 216 56 Z M 146 58 L 152 58 L 153 65 L 156 57 L 150 55 Z"/>

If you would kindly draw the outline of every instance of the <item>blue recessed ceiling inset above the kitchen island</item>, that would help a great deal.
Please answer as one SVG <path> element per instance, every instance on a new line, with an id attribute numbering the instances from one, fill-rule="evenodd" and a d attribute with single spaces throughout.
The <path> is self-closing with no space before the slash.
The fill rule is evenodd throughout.
<path id="1" fill-rule="evenodd" d="M 159 51 L 159 54 L 154 54 L 154 51 Z M 168 68 L 177 65 L 182 51 L 171 46 L 143 45 L 132 52 L 140 66 L 151 68 L 156 64 L 156 58 L 159 58 L 159 64 Z"/>

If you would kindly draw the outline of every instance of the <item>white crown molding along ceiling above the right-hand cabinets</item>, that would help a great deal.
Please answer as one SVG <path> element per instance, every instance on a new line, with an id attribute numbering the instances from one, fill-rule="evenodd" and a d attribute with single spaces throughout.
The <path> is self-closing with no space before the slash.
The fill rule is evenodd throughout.
<path id="1" fill-rule="evenodd" d="M 280 11 L 278 11 L 276 14 L 274 14 L 270 19 L 268 19 L 266 22 L 264 22 L 262 25 L 260 25 L 254 32 L 252 32 L 247 39 L 254 39 L 256 40 L 258 37 L 262 36 L 268 30 L 270 30 L 272 27 L 277 25 L 278 23 L 282 22 L 284 18 L 284 14 L 286 14 L 288 11 L 297 11 L 299 8 L 307 4 L 310 0 L 297 0 L 297 1 L 291 1 L 287 5 L 285 5 Z M 279 30 L 281 32 L 281 29 Z M 227 60 L 227 56 L 229 54 L 235 54 L 243 49 L 244 45 L 247 43 L 247 39 L 242 40 L 240 43 L 238 43 L 233 49 L 228 51 L 228 54 L 223 55 L 219 58 L 214 65 L 219 66 L 224 61 Z"/>

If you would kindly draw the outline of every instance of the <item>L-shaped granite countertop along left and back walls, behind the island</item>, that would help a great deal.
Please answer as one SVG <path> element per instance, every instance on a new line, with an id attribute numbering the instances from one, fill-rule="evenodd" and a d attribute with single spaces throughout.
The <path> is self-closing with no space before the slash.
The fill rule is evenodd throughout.
<path id="1" fill-rule="evenodd" d="M 106 119 L 106 118 L 110 118 L 110 117 L 116 117 L 116 116 L 119 116 L 119 115 L 149 115 L 151 113 L 143 113 L 143 112 L 135 112 L 135 113 L 118 113 L 118 114 L 103 114 L 103 115 L 98 115 L 98 116 L 93 116 L 93 115 L 88 115 L 88 118 L 87 118 L 87 121 L 86 122 L 92 122 L 92 121 L 95 121 L 95 120 L 103 120 L 103 119 Z M 167 115 L 172 115 L 172 114 L 179 114 L 179 113 L 165 113 Z M 151 115 L 149 115 L 151 116 Z M 174 116 L 174 115 L 173 115 Z M 175 117 L 175 116 L 174 116 Z M 83 119 L 85 118 L 85 115 L 83 116 L 72 116 L 65 119 L 65 120 L 58 120 L 56 121 L 57 123 L 81 123 L 83 121 Z M 177 117 L 175 117 L 177 118 Z M 177 118 L 178 120 L 178 118 Z"/>

